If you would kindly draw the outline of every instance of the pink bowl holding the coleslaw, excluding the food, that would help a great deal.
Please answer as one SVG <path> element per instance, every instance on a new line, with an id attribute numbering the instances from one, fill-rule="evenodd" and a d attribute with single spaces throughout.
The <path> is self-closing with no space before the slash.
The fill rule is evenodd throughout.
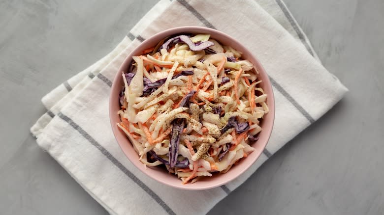
<path id="1" fill-rule="evenodd" d="M 251 146 L 256 149 L 254 152 L 252 152 L 247 158 L 242 159 L 236 165 L 233 165 L 232 168 L 224 174 L 213 174 L 212 177 L 206 177 L 205 179 L 197 181 L 194 184 L 186 185 L 183 185 L 180 179 L 178 179 L 175 175 L 169 174 L 163 168 L 145 168 L 144 164 L 138 160 L 139 156 L 134 151 L 131 143 L 128 140 L 128 137 L 116 126 L 116 123 L 120 122 L 120 117 L 117 114 L 118 110 L 120 109 L 119 93 L 124 85 L 121 73 L 122 71 L 128 70 L 128 66 L 130 61 L 132 60 L 132 56 L 140 55 L 143 50 L 156 46 L 156 44 L 166 36 L 180 33 L 211 34 L 211 38 L 218 40 L 221 44 L 231 46 L 234 49 L 242 52 L 242 58 L 251 61 L 259 71 L 259 79 L 262 80 L 260 86 L 268 95 L 266 103 L 269 107 L 269 112 L 265 114 L 264 119 L 262 120 L 260 125 L 263 130 L 258 135 L 259 139 L 256 143 L 251 144 Z M 169 185 L 174 188 L 202 190 L 216 188 L 232 181 L 233 179 L 241 175 L 243 172 L 245 172 L 257 160 L 257 158 L 261 155 L 265 146 L 267 145 L 267 142 L 272 132 L 273 122 L 275 118 L 275 100 L 271 83 L 264 68 L 261 66 L 256 57 L 251 54 L 251 52 L 237 40 L 223 32 L 207 27 L 175 27 L 168 30 L 164 30 L 146 39 L 136 49 L 134 49 L 124 60 L 123 64 L 119 68 L 119 71 L 117 71 L 115 79 L 113 80 L 111 96 L 109 99 L 109 117 L 113 134 L 115 135 L 115 138 L 119 143 L 121 149 L 123 150 L 124 154 L 127 156 L 129 161 L 131 161 L 138 169 L 148 175 L 148 177 L 151 177 L 162 184 Z"/>

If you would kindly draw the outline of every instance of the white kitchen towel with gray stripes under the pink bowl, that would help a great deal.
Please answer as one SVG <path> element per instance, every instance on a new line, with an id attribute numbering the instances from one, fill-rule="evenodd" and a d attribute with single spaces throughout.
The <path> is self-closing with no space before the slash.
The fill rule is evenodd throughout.
<path id="1" fill-rule="evenodd" d="M 128 161 L 110 128 L 110 86 L 122 61 L 145 38 L 179 26 L 212 27 L 235 37 L 253 51 L 273 84 L 276 117 L 266 150 L 249 170 L 220 188 L 185 191 L 160 185 Z M 115 50 L 43 98 L 48 112 L 31 132 L 111 214 L 205 214 L 346 91 L 320 64 L 281 0 L 230 5 L 160 0 Z"/>

